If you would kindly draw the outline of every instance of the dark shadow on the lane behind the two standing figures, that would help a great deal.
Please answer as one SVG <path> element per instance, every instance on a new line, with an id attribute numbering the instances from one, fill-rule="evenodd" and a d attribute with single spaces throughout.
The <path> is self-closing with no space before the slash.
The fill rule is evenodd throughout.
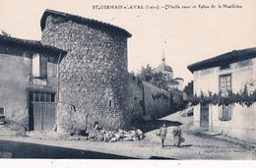
<path id="1" fill-rule="evenodd" d="M 140 124 L 137 124 L 136 127 L 138 129 L 141 129 L 143 133 L 148 133 L 153 130 L 160 129 L 160 127 L 165 124 L 166 127 L 171 127 L 171 126 L 180 126 L 182 123 L 177 122 L 177 121 L 169 121 L 169 120 L 150 120 L 147 122 L 142 122 Z"/>

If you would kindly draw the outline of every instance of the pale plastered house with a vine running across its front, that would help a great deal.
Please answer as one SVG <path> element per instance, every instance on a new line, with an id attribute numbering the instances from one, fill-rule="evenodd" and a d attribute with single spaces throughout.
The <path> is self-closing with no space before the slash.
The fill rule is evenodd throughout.
<path id="1" fill-rule="evenodd" d="M 239 92 L 255 89 L 256 48 L 233 50 L 188 66 L 194 75 L 194 94 Z M 256 142 L 256 105 L 239 104 L 194 107 L 194 126 L 223 133 L 239 140 Z"/>

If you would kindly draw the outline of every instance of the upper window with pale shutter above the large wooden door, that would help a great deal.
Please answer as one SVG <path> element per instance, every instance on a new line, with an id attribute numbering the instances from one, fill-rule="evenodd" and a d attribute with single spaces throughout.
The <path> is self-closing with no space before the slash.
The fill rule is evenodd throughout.
<path id="1" fill-rule="evenodd" d="M 46 56 L 40 54 L 32 55 L 32 76 L 34 78 L 46 78 L 47 75 L 47 59 Z"/>

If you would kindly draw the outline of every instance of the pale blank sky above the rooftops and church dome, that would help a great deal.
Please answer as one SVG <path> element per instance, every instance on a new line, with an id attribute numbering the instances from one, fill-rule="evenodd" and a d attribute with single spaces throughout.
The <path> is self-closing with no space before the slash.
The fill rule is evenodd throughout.
<path id="1" fill-rule="evenodd" d="M 217 8 L 224 4 L 242 8 Z M 94 5 L 180 8 L 94 10 Z M 199 5 L 216 8 L 199 8 Z M 172 67 L 174 78 L 183 78 L 184 84 L 193 80 L 188 65 L 232 50 L 256 47 L 255 0 L 0 0 L 0 30 L 14 37 L 39 40 L 40 18 L 45 9 L 128 30 L 132 34 L 128 39 L 129 72 L 138 73 L 147 64 L 157 67 L 164 49 L 165 61 Z"/>

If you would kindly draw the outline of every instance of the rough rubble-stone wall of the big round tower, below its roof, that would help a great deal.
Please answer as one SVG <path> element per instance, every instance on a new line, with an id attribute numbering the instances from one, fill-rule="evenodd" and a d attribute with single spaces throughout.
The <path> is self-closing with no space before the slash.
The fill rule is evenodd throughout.
<path id="1" fill-rule="evenodd" d="M 106 129 L 130 126 L 127 37 L 49 15 L 41 42 L 68 51 L 60 65 L 59 131 L 90 129 L 96 122 Z"/>

